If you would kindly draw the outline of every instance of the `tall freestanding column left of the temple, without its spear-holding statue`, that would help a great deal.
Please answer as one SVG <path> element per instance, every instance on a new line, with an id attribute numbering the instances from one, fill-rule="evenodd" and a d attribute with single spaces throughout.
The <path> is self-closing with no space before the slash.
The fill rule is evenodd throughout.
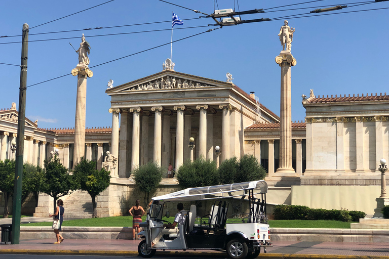
<path id="1" fill-rule="evenodd" d="M 73 167 L 81 161 L 85 151 L 85 114 L 87 106 L 87 77 L 92 77 L 93 72 L 85 63 L 78 64 L 71 70 L 71 74 L 77 76 L 77 97 L 75 102 L 74 123 L 74 150 Z"/>

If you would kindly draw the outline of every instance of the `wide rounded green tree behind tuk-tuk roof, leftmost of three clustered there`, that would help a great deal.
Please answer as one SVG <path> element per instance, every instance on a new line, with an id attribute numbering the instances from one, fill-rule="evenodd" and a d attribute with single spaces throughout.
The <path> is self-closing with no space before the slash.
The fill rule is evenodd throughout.
<path id="1" fill-rule="evenodd" d="M 177 171 L 177 180 L 181 188 L 217 185 L 219 183 L 216 161 L 198 158 L 193 162 L 186 160 Z"/>

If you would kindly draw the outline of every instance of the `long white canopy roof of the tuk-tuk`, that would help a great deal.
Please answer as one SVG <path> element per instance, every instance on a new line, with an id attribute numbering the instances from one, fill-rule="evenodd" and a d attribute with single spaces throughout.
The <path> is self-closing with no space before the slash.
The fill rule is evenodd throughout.
<path id="1" fill-rule="evenodd" d="M 248 195 L 248 190 L 254 190 L 254 194 L 267 193 L 267 183 L 260 180 L 245 183 L 187 188 L 178 192 L 153 197 L 152 200 L 189 201 L 231 198 Z"/>

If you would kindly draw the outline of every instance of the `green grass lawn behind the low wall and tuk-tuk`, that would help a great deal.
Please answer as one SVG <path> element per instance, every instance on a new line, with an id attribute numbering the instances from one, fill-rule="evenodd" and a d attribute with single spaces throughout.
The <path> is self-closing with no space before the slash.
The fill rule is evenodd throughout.
<path id="1" fill-rule="evenodd" d="M 145 221 L 146 216 L 142 217 Z M 169 222 L 174 221 L 174 217 L 164 218 Z M 269 221 L 270 228 L 333 228 L 349 229 L 352 222 L 340 221 Z M 38 222 L 23 224 L 22 226 L 51 226 L 52 222 Z M 120 216 L 109 218 L 94 218 L 82 220 L 70 220 L 62 223 L 64 227 L 132 227 L 132 216 Z"/>

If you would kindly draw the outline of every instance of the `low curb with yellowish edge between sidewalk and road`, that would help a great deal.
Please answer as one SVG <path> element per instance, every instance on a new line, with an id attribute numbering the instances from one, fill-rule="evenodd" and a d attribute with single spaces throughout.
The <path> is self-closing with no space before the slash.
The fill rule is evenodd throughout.
<path id="1" fill-rule="evenodd" d="M 0 249 L 0 254 L 61 254 L 61 255 L 126 255 L 138 256 L 137 251 L 120 250 L 30 250 L 30 249 Z M 226 258 L 224 252 L 181 252 L 181 251 L 157 251 L 159 256 L 174 257 L 214 257 Z M 282 254 L 282 253 L 261 253 L 261 258 L 271 259 L 389 259 L 389 256 L 370 255 L 336 255 L 336 254 Z"/>

